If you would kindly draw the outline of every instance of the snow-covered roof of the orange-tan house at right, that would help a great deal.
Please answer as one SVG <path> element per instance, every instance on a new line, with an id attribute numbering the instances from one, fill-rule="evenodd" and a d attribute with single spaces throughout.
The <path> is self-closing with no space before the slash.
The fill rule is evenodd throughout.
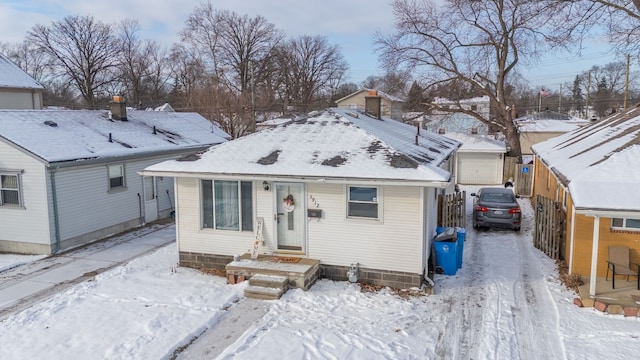
<path id="1" fill-rule="evenodd" d="M 640 108 L 533 145 L 576 209 L 640 211 Z"/>

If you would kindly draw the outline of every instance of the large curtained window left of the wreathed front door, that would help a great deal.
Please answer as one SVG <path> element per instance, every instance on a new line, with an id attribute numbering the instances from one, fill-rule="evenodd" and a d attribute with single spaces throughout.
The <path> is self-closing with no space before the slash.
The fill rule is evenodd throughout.
<path id="1" fill-rule="evenodd" d="M 253 231 L 250 181 L 201 180 L 202 228 Z"/>

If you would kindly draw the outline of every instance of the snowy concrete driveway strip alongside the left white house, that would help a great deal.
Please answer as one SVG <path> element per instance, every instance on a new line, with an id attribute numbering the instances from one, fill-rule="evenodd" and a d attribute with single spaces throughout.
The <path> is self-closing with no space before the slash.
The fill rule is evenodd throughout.
<path id="1" fill-rule="evenodd" d="M 173 223 L 155 223 L 0 272 L 0 321 L 175 239 Z"/>

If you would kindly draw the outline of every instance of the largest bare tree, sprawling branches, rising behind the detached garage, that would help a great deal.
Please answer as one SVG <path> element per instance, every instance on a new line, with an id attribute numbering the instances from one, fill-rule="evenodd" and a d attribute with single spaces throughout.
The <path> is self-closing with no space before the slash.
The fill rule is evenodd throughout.
<path id="1" fill-rule="evenodd" d="M 444 3 L 444 4 L 442 4 Z M 442 4 L 442 5 L 438 5 Z M 459 81 L 490 98 L 492 117 L 465 113 L 504 133 L 511 156 L 520 158 L 520 138 L 509 112 L 507 85 L 516 66 L 542 51 L 567 44 L 554 16 L 562 2 L 524 0 L 395 0 L 395 32 L 377 34 L 377 50 L 386 68 L 422 70 L 425 84 Z"/>

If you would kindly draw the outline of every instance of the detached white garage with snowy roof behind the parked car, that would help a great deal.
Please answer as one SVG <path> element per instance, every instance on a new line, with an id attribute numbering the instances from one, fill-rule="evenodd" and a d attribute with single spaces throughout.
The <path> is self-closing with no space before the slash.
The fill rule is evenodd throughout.
<path id="1" fill-rule="evenodd" d="M 447 133 L 445 136 L 462 143 L 454 162 L 456 184 L 502 184 L 507 152 L 504 141 L 463 133 Z"/>

